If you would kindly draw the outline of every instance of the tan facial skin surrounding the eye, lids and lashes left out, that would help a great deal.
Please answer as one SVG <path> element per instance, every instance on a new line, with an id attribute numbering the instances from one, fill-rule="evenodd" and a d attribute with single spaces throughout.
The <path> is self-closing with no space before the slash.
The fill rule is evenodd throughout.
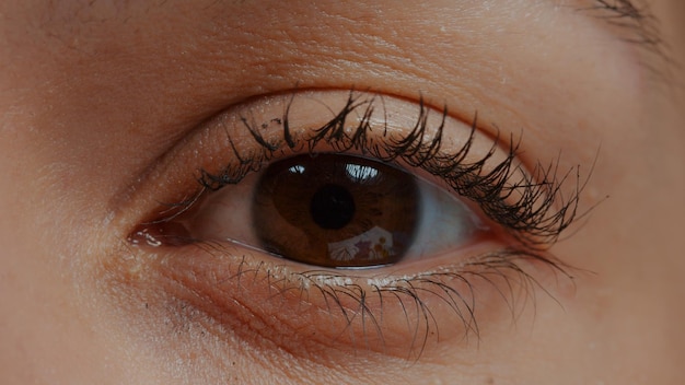
<path id="1" fill-rule="evenodd" d="M 634 21 L 578 11 L 593 4 L 2 2 L 2 382 L 677 383 L 685 8 L 648 1 L 664 43 L 640 45 L 626 43 L 645 37 Z M 235 282 L 230 257 L 127 238 L 211 166 L 205 150 L 178 150 L 198 128 L 263 95 L 352 88 L 448 105 L 465 128 L 477 112 L 483 137 L 522 138 L 524 164 L 580 166 L 579 212 L 590 213 L 548 250 L 567 273 L 526 265 L 538 284 L 503 289 L 518 299 L 510 311 L 476 282 L 478 335 L 464 337 L 443 305 L 431 311 L 442 337 L 404 354 L 413 335 L 393 328 L 406 318 L 397 306 L 380 349 L 359 324 L 346 334 L 339 311 L 298 313 L 265 280 Z M 214 161 L 230 154 L 214 150 Z M 178 155 L 189 153 L 200 155 Z M 330 324 L 313 322 L 322 314 Z"/>

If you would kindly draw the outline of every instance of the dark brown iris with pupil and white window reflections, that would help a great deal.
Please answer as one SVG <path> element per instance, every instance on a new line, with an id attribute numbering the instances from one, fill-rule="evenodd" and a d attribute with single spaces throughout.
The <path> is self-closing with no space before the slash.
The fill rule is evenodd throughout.
<path id="1" fill-rule="evenodd" d="M 415 178 L 398 168 L 340 154 L 272 163 L 257 183 L 252 213 L 262 247 L 325 267 L 398 261 L 417 230 Z"/>

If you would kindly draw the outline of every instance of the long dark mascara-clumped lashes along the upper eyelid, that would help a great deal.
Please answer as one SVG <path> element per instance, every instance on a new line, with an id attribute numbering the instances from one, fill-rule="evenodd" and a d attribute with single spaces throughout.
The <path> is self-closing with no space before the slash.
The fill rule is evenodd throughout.
<path id="1" fill-rule="evenodd" d="M 382 162 L 395 163 L 400 160 L 413 167 L 425 170 L 444 180 L 454 192 L 478 205 L 486 217 L 531 249 L 542 250 L 550 247 L 560 233 L 581 217 L 578 214 L 579 196 L 587 180 L 581 184 L 580 166 L 559 176 L 559 160 L 556 160 L 546 167 L 537 164 L 529 174 L 521 165 L 514 163 L 521 141 L 514 141 L 512 137 L 504 160 L 490 171 L 486 171 L 486 162 L 492 158 L 500 143 L 499 135 L 480 160 L 466 162 L 477 130 L 477 114 L 472 121 L 468 139 L 460 150 L 449 154 L 441 153 L 442 129 L 448 117 L 448 108 L 442 109 L 442 120 L 440 126 L 434 128 L 434 137 L 426 142 L 430 108 L 425 105 L 421 97 L 414 128 L 398 139 L 387 138 L 388 140 L 380 144 L 368 137 L 372 130 L 370 118 L 380 97 L 364 98 L 350 91 L 345 106 L 335 114 L 335 117 L 314 129 L 313 137 L 302 143 L 292 137 L 290 130 L 289 116 L 293 98 L 286 106 L 282 117 L 271 119 L 282 125 L 282 139 L 269 142 L 259 133 L 259 125 L 247 117 L 240 117 L 252 138 L 259 144 L 259 150 L 252 151 L 247 156 L 241 155 L 229 136 L 228 141 L 237 162 L 227 166 L 219 174 L 200 170 L 198 182 L 204 189 L 217 190 L 239 183 L 249 172 L 258 171 L 263 164 L 274 159 L 276 152 L 283 145 L 295 151 L 302 151 L 306 147 L 306 151 L 314 153 L 316 145 L 325 142 L 339 153 L 357 150 L 362 155 L 370 155 Z M 361 119 L 357 127 L 349 131 L 347 118 L 350 114 L 359 112 Z M 385 129 L 383 137 L 386 132 Z M 565 197 L 561 186 L 572 175 L 573 170 L 576 188 Z"/>

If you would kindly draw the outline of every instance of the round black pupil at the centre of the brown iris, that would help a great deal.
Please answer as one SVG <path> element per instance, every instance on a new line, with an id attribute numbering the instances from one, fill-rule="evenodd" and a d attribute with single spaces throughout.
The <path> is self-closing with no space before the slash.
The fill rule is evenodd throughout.
<path id="1" fill-rule="evenodd" d="M 322 186 L 310 205 L 314 222 L 327 230 L 345 228 L 355 217 L 355 209 L 350 191 L 338 185 Z"/>

